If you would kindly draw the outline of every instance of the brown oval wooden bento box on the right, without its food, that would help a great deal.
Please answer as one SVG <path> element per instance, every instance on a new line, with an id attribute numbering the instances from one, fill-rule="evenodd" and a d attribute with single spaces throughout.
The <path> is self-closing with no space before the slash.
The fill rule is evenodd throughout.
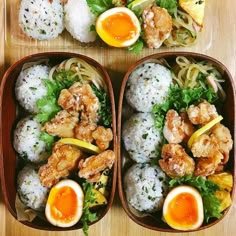
<path id="1" fill-rule="evenodd" d="M 119 189 L 119 196 L 120 196 L 121 203 L 122 203 L 122 206 L 123 206 L 125 212 L 135 223 L 137 223 L 145 228 L 148 228 L 151 230 L 156 230 L 156 231 L 161 231 L 161 232 L 184 232 L 184 231 L 176 230 L 176 229 L 173 229 L 170 226 L 168 226 L 168 224 L 166 224 L 163 220 L 161 210 L 159 212 L 157 212 L 156 214 L 148 214 L 148 213 L 143 214 L 142 212 L 141 213 L 137 212 L 133 207 L 130 206 L 130 204 L 128 203 L 127 198 L 126 198 L 125 186 L 124 186 L 124 176 L 125 176 L 128 168 L 135 162 L 131 160 L 129 153 L 127 152 L 127 150 L 125 150 L 124 140 L 122 139 L 122 128 L 124 126 L 124 121 L 126 121 L 130 117 L 130 114 L 132 114 L 132 110 L 133 110 L 133 109 L 130 109 L 129 106 L 127 108 L 127 100 L 126 100 L 126 96 L 125 96 L 125 91 L 126 91 L 127 81 L 129 79 L 129 76 L 137 67 L 141 66 L 145 62 L 155 62 L 156 61 L 156 63 L 160 63 L 163 59 L 169 65 L 173 65 L 173 63 L 175 63 L 176 57 L 179 57 L 179 56 L 191 58 L 197 62 L 198 61 L 208 61 L 212 65 L 214 65 L 217 68 L 217 70 L 221 73 L 223 79 L 225 80 L 225 82 L 223 83 L 222 86 L 223 86 L 223 89 L 226 94 L 226 99 L 224 101 L 224 105 L 222 107 L 221 114 L 223 114 L 223 116 L 224 116 L 223 123 L 230 130 L 233 142 L 235 143 L 235 141 L 236 141 L 235 140 L 235 135 L 236 135 L 235 86 L 234 86 L 233 78 L 230 75 L 228 69 L 221 62 L 219 62 L 218 60 L 216 60 L 210 56 L 206 56 L 206 55 L 198 54 L 198 53 L 166 52 L 166 53 L 157 53 L 157 54 L 149 55 L 149 56 L 137 61 L 136 63 L 134 63 L 133 65 L 131 65 L 129 67 L 129 69 L 126 72 L 126 74 L 123 78 L 123 81 L 122 81 L 120 97 L 119 97 L 119 105 L 118 105 L 117 132 L 118 132 L 118 189 Z M 157 62 L 157 61 L 159 61 L 159 62 Z M 142 76 L 142 75 L 140 75 L 140 76 Z M 134 77 L 132 77 L 132 78 L 134 78 Z M 130 94 L 131 94 L 131 92 L 129 93 L 129 95 Z M 134 122 L 136 122 L 136 120 L 134 120 Z M 129 138 L 130 138 L 130 136 L 129 136 Z M 140 137 L 140 139 L 141 138 L 142 137 Z M 146 138 L 146 136 L 144 138 Z M 232 173 L 233 179 L 235 179 L 235 156 L 236 156 L 236 149 L 235 149 L 235 145 L 233 145 L 233 148 L 230 151 L 230 160 L 228 162 L 228 169 Z M 131 178 L 130 175 L 129 175 L 129 178 Z M 136 178 L 138 178 L 138 177 L 136 177 Z M 135 180 L 133 180 L 133 181 L 135 181 Z M 234 186 L 235 186 L 235 183 L 233 184 L 232 192 L 231 192 L 231 199 L 232 200 L 233 200 L 234 191 L 235 191 Z M 139 194 L 141 194 L 141 193 L 139 193 Z M 217 224 L 227 214 L 228 210 L 229 210 L 229 208 L 223 212 L 221 218 L 219 218 L 219 219 L 213 218 L 208 223 L 203 223 L 197 229 L 190 229 L 190 230 L 186 230 L 185 232 L 203 230 L 203 229 L 206 229 L 208 227 L 211 227 L 211 226 Z"/>

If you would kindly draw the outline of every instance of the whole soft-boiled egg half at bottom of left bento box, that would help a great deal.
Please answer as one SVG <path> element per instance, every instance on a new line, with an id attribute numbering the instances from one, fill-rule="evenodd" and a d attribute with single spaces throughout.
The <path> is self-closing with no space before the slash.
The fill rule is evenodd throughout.
<path id="1" fill-rule="evenodd" d="M 45 214 L 48 221 L 59 227 L 75 225 L 83 212 L 84 193 L 73 180 L 61 180 L 50 190 Z"/>

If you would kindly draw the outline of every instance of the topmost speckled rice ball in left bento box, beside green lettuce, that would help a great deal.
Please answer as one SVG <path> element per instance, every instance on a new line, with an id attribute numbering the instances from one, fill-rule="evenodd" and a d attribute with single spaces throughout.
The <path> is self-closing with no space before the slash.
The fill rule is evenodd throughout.
<path id="1" fill-rule="evenodd" d="M 19 74 L 16 85 L 16 99 L 20 105 L 31 113 L 37 113 L 37 100 L 47 94 L 44 79 L 48 79 L 50 67 L 46 65 L 34 65 Z"/>

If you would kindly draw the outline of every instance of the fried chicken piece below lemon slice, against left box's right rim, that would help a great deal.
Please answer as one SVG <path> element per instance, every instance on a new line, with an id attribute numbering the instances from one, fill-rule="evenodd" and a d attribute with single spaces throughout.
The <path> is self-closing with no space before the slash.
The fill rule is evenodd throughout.
<path id="1" fill-rule="evenodd" d="M 97 156 L 93 155 L 79 162 L 79 177 L 91 181 L 94 176 L 98 177 L 100 172 L 107 167 L 111 169 L 115 162 L 115 153 L 112 150 L 106 150 Z"/>

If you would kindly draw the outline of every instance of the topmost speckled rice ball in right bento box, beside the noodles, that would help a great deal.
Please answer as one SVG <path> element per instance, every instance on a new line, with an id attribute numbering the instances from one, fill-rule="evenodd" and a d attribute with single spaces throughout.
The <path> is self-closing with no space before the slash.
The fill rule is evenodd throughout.
<path id="1" fill-rule="evenodd" d="M 135 110 L 151 112 L 154 104 L 165 101 L 171 84 L 169 69 L 153 62 L 144 63 L 130 74 L 125 97 Z"/>

